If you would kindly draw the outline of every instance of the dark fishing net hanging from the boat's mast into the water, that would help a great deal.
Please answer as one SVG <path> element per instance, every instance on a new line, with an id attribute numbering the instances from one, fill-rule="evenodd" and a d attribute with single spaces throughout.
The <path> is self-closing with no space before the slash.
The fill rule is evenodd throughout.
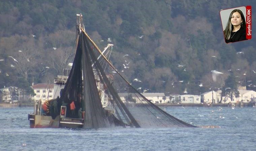
<path id="1" fill-rule="evenodd" d="M 73 66 L 60 97 L 67 106 L 67 117 L 75 117 L 79 109 L 85 111 L 84 128 L 195 127 L 140 94 L 93 44 L 84 31 L 79 34 Z M 72 101 L 75 115 L 70 112 Z"/>

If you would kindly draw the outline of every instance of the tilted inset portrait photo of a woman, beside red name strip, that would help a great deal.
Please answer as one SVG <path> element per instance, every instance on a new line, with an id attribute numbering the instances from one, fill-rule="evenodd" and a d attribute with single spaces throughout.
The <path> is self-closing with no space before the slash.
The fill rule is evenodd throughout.
<path id="1" fill-rule="evenodd" d="M 220 11 L 226 43 L 248 40 L 246 37 L 246 11 L 245 6 Z"/>

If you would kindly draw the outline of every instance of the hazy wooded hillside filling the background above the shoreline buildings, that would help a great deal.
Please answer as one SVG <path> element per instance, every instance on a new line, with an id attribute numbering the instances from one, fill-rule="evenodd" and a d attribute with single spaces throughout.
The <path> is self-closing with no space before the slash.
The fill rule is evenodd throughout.
<path id="1" fill-rule="evenodd" d="M 250 0 L 2 0 L 0 88 L 53 83 L 73 61 L 76 14 L 82 13 L 101 50 L 108 38 L 114 44 L 114 66 L 123 70 L 130 62 L 122 74 L 142 81 L 135 88 L 172 94 L 236 85 L 256 90 L 254 36 L 226 44 L 220 19 L 221 9 L 246 5 L 256 8 Z M 223 74 L 213 81 L 211 70 Z"/>

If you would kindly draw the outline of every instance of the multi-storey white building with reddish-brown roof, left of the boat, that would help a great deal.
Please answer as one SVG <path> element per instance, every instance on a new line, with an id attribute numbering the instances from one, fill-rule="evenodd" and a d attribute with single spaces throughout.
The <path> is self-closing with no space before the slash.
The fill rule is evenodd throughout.
<path id="1" fill-rule="evenodd" d="M 45 84 L 45 83 L 39 83 L 32 86 L 32 89 L 34 90 L 34 93 L 36 94 L 34 96 L 34 101 L 41 100 L 42 104 L 45 100 L 51 100 L 53 99 L 53 84 Z"/>

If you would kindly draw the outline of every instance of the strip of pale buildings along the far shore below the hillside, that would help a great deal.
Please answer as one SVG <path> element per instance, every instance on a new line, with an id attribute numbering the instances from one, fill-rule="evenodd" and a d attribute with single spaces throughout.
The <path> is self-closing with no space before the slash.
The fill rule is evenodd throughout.
<path id="1" fill-rule="evenodd" d="M 32 95 L 23 95 L 21 89 L 17 87 L 6 87 L 0 89 L 0 103 L 2 104 L 22 104 L 31 103 L 41 100 L 42 103 L 46 100 L 57 98 L 60 94 L 59 89 L 55 88 L 55 84 L 39 83 L 31 87 L 35 93 Z M 64 88 L 64 86 L 63 86 Z M 192 94 L 170 94 L 170 93 L 141 93 L 149 101 L 156 105 L 166 106 L 209 106 L 209 105 L 241 105 L 251 104 L 255 105 L 256 92 L 253 90 L 246 90 L 246 87 L 239 87 L 239 95 L 231 94 L 230 96 L 221 96 L 221 90 L 207 91 L 200 95 Z M 127 93 L 118 93 L 121 100 L 125 101 Z"/>

